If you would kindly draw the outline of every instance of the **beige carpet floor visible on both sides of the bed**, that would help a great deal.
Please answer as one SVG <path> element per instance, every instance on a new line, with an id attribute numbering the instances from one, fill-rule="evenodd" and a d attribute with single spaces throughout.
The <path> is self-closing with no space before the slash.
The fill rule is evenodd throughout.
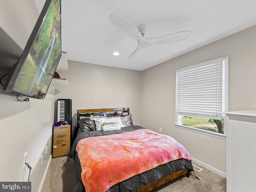
<path id="1" fill-rule="evenodd" d="M 194 172 L 201 180 L 190 173 L 189 178 L 174 180 L 152 192 L 226 192 L 226 178 L 206 168 L 200 172 Z M 73 192 L 75 186 L 76 175 L 73 159 L 67 156 L 52 158 L 42 192 Z"/>

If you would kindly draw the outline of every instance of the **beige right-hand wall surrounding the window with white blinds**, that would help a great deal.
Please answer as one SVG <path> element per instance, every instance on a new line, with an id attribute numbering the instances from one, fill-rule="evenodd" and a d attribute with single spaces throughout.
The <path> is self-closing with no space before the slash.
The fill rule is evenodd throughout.
<path id="1" fill-rule="evenodd" d="M 256 108 L 256 26 L 142 71 L 142 125 L 174 137 L 191 156 L 226 173 L 226 140 L 176 128 L 175 72 L 229 55 L 229 109 Z M 155 118 L 152 118 L 152 114 Z"/>

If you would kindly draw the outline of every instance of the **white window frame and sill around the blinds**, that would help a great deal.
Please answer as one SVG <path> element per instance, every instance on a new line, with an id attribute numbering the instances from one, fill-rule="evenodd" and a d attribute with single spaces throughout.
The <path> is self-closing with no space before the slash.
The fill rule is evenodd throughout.
<path id="1" fill-rule="evenodd" d="M 188 67 L 176 70 L 176 92 L 175 92 L 175 97 L 176 97 L 175 98 L 175 126 L 176 126 L 176 128 L 181 128 L 181 129 L 184 129 L 184 130 L 189 130 L 189 131 L 192 131 L 192 132 L 197 132 L 197 133 L 200 133 L 200 134 L 205 134 L 205 135 L 208 135 L 208 136 L 213 136 L 213 137 L 216 137 L 216 138 L 226 140 L 227 118 L 226 118 L 226 114 L 224 114 L 224 112 L 228 111 L 228 65 L 229 65 L 229 56 L 224 56 L 222 58 L 223 58 L 223 61 L 222 61 L 222 64 L 223 64 L 223 68 L 222 68 L 222 70 L 223 70 L 222 71 L 222 74 L 223 74 L 223 77 L 222 77 L 222 115 L 223 115 L 223 118 L 224 118 L 224 134 L 217 133 L 217 132 L 211 132 L 211 131 L 203 130 L 203 129 L 200 129 L 200 128 L 194 128 L 194 127 L 182 125 L 182 115 L 177 114 L 177 103 L 178 103 L 177 102 L 177 100 L 178 100 L 178 76 L 177 76 L 177 71 L 186 70 L 186 69 L 189 69 L 189 68 L 190 69 L 191 68 L 197 68 L 197 66 L 207 65 L 207 64 L 213 63 L 215 60 L 218 60 L 220 58 L 210 60 L 210 61 L 206 61 L 206 62 L 202 62 L 200 64 L 194 64 L 192 66 L 188 66 Z"/>

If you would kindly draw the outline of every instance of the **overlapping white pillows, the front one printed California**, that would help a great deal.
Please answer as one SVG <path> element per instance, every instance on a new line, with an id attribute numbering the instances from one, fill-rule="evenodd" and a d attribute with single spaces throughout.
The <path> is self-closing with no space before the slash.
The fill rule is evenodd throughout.
<path id="1" fill-rule="evenodd" d="M 121 118 L 95 118 L 96 130 L 120 130 L 122 125 Z"/>

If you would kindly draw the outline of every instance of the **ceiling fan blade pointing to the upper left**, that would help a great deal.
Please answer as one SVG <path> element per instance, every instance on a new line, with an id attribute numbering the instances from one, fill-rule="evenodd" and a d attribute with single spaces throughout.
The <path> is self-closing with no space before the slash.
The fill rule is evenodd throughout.
<path id="1" fill-rule="evenodd" d="M 112 22 L 114 26 L 116 26 L 116 28 L 120 29 L 121 31 L 125 32 L 126 34 L 134 38 L 138 44 L 140 43 L 140 37 L 132 28 L 132 26 L 130 26 L 127 22 L 125 22 L 124 20 L 115 15 L 110 15 L 109 20 L 110 22 Z"/>

